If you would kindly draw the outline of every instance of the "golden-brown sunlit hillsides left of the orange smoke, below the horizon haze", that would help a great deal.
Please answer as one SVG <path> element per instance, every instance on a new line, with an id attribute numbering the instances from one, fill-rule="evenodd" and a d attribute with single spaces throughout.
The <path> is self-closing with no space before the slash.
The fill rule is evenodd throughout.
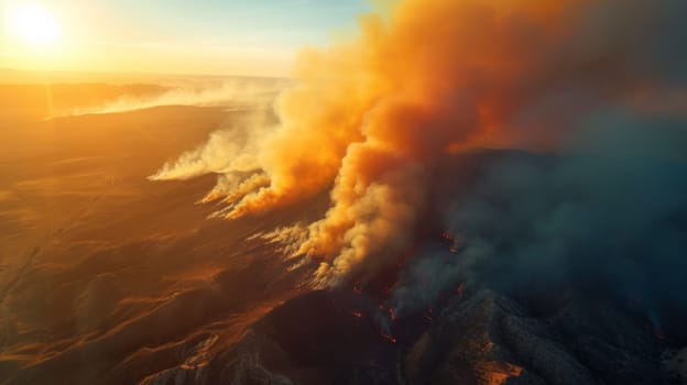
<path id="1" fill-rule="evenodd" d="M 200 340 L 230 343 L 294 293 L 301 271 L 283 268 L 276 245 L 246 239 L 307 210 L 207 220 L 214 208 L 194 202 L 211 176 L 146 179 L 244 113 L 159 107 L 2 121 L 0 378 L 140 381 Z"/>

